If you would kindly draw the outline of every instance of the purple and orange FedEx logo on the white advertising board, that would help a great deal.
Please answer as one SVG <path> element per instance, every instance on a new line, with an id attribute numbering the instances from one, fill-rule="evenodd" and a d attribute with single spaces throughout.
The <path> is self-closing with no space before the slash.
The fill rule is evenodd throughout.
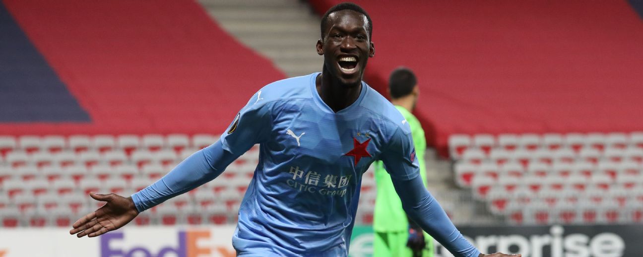
<path id="1" fill-rule="evenodd" d="M 168 235 L 171 236 L 171 235 Z M 236 253 L 224 247 L 209 247 L 203 241 L 210 240 L 210 231 L 179 231 L 177 243 L 174 245 L 158 245 L 151 247 L 147 245 L 132 245 L 124 247 L 123 242 L 140 241 L 141 238 L 131 236 L 125 238 L 122 232 L 111 232 L 100 236 L 101 257 L 204 257 L 213 256 L 213 250 L 218 254 L 214 256 L 235 256 Z M 149 242 L 149 239 L 148 239 Z M 199 244 L 201 242 L 201 244 Z M 131 245 L 131 244 L 130 244 Z M 175 246 L 176 245 L 176 246 Z M 215 248 L 215 249 L 212 249 Z"/>

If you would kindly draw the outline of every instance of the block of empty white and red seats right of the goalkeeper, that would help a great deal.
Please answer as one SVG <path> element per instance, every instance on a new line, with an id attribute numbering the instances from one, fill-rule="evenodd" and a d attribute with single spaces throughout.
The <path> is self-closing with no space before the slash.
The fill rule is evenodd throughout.
<path id="1" fill-rule="evenodd" d="M 642 132 L 450 137 L 458 186 L 513 224 L 643 222 Z"/>

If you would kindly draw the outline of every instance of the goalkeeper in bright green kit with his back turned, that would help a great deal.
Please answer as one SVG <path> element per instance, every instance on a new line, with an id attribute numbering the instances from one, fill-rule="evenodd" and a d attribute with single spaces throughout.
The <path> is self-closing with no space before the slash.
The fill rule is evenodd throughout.
<path id="1" fill-rule="evenodd" d="M 399 67 L 393 71 L 388 79 L 388 93 L 391 103 L 395 105 L 404 117 L 405 123 L 411 128 L 411 136 L 415 147 L 415 155 L 422 177 L 426 186 L 426 170 L 424 169 L 424 150 L 426 139 L 420 122 L 411 114 L 419 97 L 420 89 L 413 71 Z M 402 202 L 395 193 L 391 182 L 381 161 L 374 163 L 375 180 L 377 182 L 377 198 L 373 230 L 373 256 L 433 256 L 433 238 L 422 231 L 415 222 L 408 220 Z M 408 222 L 407 222 L 408 220 Z"/>

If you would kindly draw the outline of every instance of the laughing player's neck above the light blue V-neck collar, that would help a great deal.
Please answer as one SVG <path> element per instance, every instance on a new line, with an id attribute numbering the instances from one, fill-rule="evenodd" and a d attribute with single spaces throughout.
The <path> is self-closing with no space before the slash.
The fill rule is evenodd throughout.
<path id="1" fill-rule="evenodd" d="M 355 87 L 341 85 L 339 80 L 332 78 L 325 67 L 317 76 L 315 84 L 321 100 L 334 112 L 339 112 L 357 101 L 362 87 L 361 81 Z"/>

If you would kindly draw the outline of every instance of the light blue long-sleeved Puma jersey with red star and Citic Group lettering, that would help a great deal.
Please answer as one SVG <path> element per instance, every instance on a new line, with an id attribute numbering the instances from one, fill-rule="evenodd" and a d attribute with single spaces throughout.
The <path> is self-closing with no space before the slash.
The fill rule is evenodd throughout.
<path id="1" fill-rule="evenodd" d="M 406 187 L 398 193 L 408 212 L 417 211 L 410 217 L 423 220 L 418 223 L 430 233 L 444 234 L 449 250 L 477 256 L 424 189 L 403 116 L 365 83 L 358 100 L 333 112 L 317 93 L 318 74 L 260 89 L 217 143 L 132 195 L 136 208 L 143 211 L 210 181 L 260 144 L 232 240 L 237 254 L 347 256 L 362 175 L 381 159 L 396 189 Z"/>

